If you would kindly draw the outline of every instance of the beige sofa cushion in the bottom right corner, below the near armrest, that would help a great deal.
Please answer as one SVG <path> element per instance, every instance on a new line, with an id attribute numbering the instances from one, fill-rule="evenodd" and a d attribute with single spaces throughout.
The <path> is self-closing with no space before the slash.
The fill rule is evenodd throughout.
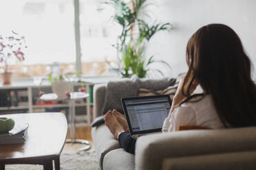
<path id="1" fill-rule="evenodd" d="M 186 162 L 184 164 L 184 162 Z M 165 159 L 162 170 L 254 170 L 256 151 L 242 151 L 203 156 L 185 156 Z"/>

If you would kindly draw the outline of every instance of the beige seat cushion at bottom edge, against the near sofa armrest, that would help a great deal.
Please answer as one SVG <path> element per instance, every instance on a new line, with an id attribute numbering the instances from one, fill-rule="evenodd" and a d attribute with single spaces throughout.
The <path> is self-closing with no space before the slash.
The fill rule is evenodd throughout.
<path id="1" fill-rule="evenodd" d="M 124 149 L 109 151 L 103 160 L 104 170 L 134 170 L 134 154 L 129 154 Z"/>

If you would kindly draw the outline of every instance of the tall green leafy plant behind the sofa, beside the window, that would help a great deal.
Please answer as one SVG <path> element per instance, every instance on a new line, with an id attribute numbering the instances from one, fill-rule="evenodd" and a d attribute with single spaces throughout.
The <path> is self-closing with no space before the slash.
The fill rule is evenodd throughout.
<path id="1" fill-rule="evenodd" d="M 122 27 L 122 32 L 114 47 L 118 51 L 118 62 L 123 77 L 138 75 L 138 77 L 149 77 L 149 71 L 162 74 L 158 69 L 151 69 L 151 64 L 160 62 L 170 67 L 167 62 L 155 60 L 155 56 L 147 58 L 145 51 L 149 40 L 158 32 L 169 31 L 170 23 L 149 24 L 145 21 L 147 14 L 143 12 L 147 6 L 153 5 L 148 0 L 108 0 L 105 3 L 114 8 L 112 17 Z M 121 53 L 121 55 L 120 55 Z"/>

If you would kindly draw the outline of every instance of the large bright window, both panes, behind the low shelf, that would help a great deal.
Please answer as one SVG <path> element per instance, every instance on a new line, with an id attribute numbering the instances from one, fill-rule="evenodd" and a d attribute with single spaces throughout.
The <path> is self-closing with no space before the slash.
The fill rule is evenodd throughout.
<path id="1" fill-rule="evenodd" d="M 107 75 L 114 67 L 111 47 L 118 27 L 111 23 L 111 9 L 98 0 L 80 0 L 82 71 L 85 76 Z M 52 66 L 63 73 L 76 71 L 74 0 L 1 0 L 0 34 L 25 36 L 25 60 L 12 64 L 15 77 L 46 75 Z M 3 69 L 0 69 L 3 72 Z"/>

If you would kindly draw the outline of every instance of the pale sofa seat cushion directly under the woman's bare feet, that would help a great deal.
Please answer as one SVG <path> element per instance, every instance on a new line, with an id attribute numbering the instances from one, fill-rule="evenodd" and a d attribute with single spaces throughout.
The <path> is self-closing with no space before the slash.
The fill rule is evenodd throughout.
<path id="1" fill-rule="evenodd" d="M 105 124 L 92 128 L 92 140 L 94 141 L 96 156 L 101 167 L 105 154 L 113 149 L 120 148 L 118 141 Z"/>

